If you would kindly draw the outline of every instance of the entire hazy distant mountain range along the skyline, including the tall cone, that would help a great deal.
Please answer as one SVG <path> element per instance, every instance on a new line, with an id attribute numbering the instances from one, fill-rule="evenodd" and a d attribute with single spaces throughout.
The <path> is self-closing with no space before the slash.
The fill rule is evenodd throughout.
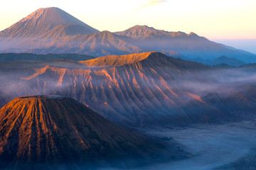
<path id="1" fill-rule="evenodd" d="M 39 8 L 0 32 L 0 52 L 77 53 L 95 57 L 159 51 L 188 58 L 214 60 L 226 56 L 256 62 L 256 55 L 211 42 L 195 33 L 169 32 L 134 26 L 99 32 L 60 8 Z"/>

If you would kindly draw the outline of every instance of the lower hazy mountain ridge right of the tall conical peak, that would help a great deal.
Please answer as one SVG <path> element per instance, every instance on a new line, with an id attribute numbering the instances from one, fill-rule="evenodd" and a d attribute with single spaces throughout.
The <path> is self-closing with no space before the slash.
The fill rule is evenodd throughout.
<path id="1" fill-rule="evenodd" d="M 208 60 L 225 55 L 245 62 L 256 62 L 255 55 L 250 52 L 212 42 L 193 32 L 169 32 L 137 25 L 114 34 L 122 35 L 127 42 L 140 47 L 143 52 L 154 50 L 169 55 L 169 51 L 173 51 L 184 57 Z"/>

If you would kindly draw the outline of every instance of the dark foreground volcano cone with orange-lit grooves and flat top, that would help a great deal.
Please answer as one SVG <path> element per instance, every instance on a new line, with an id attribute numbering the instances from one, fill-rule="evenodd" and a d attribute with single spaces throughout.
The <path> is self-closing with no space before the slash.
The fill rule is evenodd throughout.
<path id="1" fill-rule="evenodd" d="M 62 96 L 16 98 L 1 108 L 0 123 L 0 164 L 7 167 L 154 157 L 161 147 Z"/>

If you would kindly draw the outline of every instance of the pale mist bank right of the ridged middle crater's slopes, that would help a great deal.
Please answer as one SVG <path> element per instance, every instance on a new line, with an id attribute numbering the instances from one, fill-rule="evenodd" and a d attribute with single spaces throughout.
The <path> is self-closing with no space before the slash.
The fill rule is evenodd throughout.
<path id="1" fill-rule="evenodd" d="M 174 75 L 174 82 L 178 88 L 201 97 L 214 92 L 221 96 L 233 94 L 235 91 L 246 92 L 245 87 L 256 84 L 254 68 L 208 69 L 198 72 L 201 74 L 199 78 L 195 74 L 192 79 L 188 77 L 191 74 L 189 72 L 184 76 Z"/>

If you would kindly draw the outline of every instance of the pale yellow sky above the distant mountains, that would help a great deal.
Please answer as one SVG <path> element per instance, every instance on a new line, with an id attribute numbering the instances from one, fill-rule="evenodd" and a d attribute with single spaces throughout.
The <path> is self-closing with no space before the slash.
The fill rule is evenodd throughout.
<path id="1" fill-rule="evenodd" d="M 208 39 L 256 39 L 256 0 L 8 0 L 0 1 L 0 30 L 51 6 L 97 30 L 146 25 Z"/>

